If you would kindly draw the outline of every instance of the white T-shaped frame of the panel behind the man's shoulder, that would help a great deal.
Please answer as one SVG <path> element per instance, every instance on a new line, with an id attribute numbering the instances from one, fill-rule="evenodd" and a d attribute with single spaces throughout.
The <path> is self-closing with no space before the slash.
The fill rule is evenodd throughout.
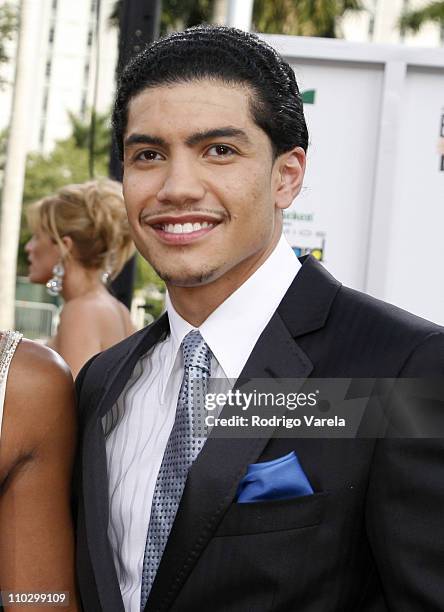
<path id="1" fill-rule="evenodd" d="M 383 69 L 384 84 L 364 287 L 368 293 L 384 295 L 394 206 L 396 154 L 407 70 L 411 67 L 436 69 L 442 71 L 444 77 L 444 49 L 299 36 L 261 37 L 291 63 L 298 60 L 340 61 L 373 64 Z"/>

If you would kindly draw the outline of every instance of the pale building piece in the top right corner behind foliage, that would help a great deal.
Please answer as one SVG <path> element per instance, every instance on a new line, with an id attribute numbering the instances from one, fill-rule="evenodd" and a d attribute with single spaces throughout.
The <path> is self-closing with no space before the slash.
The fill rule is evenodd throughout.
<path id="1" fill-rule="evenodd" d="M 423 25 L 418 34 L 399 28 L 399 18 L 406 10 L 416 10 L 431 0 L 364 0 L 367 10 L 350 12 L 342 22 L 346 40 L 439 47 L 444 45 L 444 28 L 433 23 Z"/>

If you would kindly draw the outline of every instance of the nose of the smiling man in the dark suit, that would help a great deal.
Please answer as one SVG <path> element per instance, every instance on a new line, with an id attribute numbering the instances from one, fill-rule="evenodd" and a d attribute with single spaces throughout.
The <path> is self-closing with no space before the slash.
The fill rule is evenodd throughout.
<path id="1" fill-rule="evenodd" d="M 197 162 L 181 156 L 170 160 L 165 181 L 157 194 L 159 202 L 184 206 L 201 200 L 205 186 L 199 176 Z"/>

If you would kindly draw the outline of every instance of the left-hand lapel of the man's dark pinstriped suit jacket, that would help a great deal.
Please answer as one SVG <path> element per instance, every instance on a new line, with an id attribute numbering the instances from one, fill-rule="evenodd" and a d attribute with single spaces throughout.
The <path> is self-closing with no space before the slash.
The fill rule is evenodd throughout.
<path id="1" fill-rule="evenodd" d="M 102 417 L 112 408 L 123 391 L 138 359 L 168 332 L 168 319 L 161 317 L 144 333 L 129 341 L 129 346 L 116 347 L 104 374 L 103 386 L 95 384 L 100 392 L 96 405 L 90 409 L 83 433 L 83 496 L 85 528 L 100 602 L 103 610 L 124 612 L 119 582 L 108 540 L 109 496 L 105 436 Z M 93 364 L 94 365 L 94 364 Z M 95 370 L 91 376 L 100 376 Z M 102 391 L 103 389 L 103 391 Z M 94 402 L 94 398 L 93 398 Z"/>

